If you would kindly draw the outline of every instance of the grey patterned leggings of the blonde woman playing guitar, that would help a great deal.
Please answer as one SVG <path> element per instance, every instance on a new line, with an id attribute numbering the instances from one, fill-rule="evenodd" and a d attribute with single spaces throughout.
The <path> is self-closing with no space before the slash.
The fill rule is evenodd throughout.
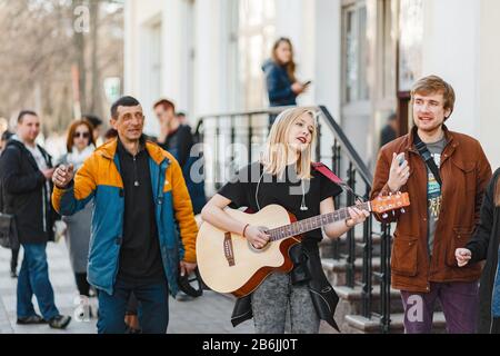
<path id="1" fill-rule="evenodd" d="M 307 285 L 293 286 L 288 274 L 271 274 L 252 293 L 257 334 L 284 334 L 287 316 L 292 334 L 318 334 L 320 320 Z"/>

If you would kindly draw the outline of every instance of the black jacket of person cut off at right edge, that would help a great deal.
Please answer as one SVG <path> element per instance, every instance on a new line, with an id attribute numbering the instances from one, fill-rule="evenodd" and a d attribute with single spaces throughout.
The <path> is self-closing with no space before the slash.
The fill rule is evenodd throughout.
<path id="1" fill-rule="evenodd" d="M 492 330 L 491 297 L 498 268 L 498 250 L 500 240 L 500 207 L 494 206 L 494 188 L 500 179 L 500 169 L 494 172 L 481 208 L 481 218 L 473 237 L 466 248 L 472 253 L 471 264 L 486 259 L 479 288 L 479 325 L 478 332 L 489 334 Z M 499 271 L 500 273 L 500 271 Z"/>

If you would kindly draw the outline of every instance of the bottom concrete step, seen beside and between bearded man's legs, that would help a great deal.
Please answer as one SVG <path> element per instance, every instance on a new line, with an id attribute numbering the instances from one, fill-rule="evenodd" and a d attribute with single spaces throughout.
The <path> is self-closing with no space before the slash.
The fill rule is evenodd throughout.
<path id="1" fill-rule="evenodd" d="M 391 334 L 402 334 L 404 333 L 403 326 L 404 315 L 392 314 L 391 315 Z M 347 315 L 343 327 L 344 333 L 350 334 L 380 334 L 380 319 L 371 318 L 367 319 L 360 315 Z M 446 332 L 446 320 L 444 314 L 441 312 L 434 313 L 432 334 L 442 334 Z"/>

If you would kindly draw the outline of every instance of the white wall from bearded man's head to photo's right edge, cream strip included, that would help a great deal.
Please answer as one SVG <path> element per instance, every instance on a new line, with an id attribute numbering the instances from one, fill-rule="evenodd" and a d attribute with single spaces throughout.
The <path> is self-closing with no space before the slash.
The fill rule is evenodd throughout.
<path id="1" fill-rule="evenodd" d="M 438 75 L 457 92 L 450 129 L 480 140 L 493 167 L 500 165 L 500 2 L 424 2 L 423 75 Z"/>

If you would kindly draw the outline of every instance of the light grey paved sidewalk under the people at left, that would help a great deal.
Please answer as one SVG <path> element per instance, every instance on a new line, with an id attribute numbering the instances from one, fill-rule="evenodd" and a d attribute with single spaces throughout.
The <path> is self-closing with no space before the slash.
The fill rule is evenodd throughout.
<path id="1" fill-rule="evenodd" d="M 56 304 L 62 314 L 73 315 L 77 307 L 77 288 L 73 280 L 69 256 L 63 241 L 49 244 L 49 274 L 56 293 Z M 19 256 L 19 265 L 22 261 Z M 76 322 L 74 317 L 67 330 L 53 330 L 47 325 L 20 326 L 16 324 L 17 279 L 9 274 L 10 250 L 0 248 L 0 334 L 94 334 L 96 319 Z M 36 298 L 33 304 L 38 313 Z M 91 304 L 97 305 L 96 298 Z M 253 324 L 246 322 L 233 328 L 230 323 L 233 301 L 213 291 L 190 301 L 170 298 L 169 334 L 239 334 L 253 333 Z"/>

